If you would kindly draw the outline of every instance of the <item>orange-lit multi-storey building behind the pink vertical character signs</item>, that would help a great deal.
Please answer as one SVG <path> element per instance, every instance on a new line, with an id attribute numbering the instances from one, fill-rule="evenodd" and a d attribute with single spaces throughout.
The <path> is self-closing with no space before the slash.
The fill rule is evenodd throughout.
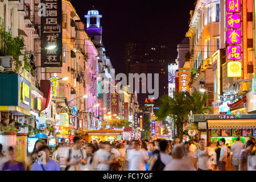
<path id="1" fill-rule="evenodd" d="M 214 101 L 216 113 L 221 111 L 234 113 L 237 110 L 246 113 L 246 100 L 242 98 L 245 98 L 245 94 L 250 90 L 251 79 L 255 72 L 254 51 L 250 51 L 254 40 L 253 1 L 238 1 L 237 3 L 241 3 L 237 5 L 241 7 L 239 12 L 237 9 L 237 15 L 242 17 L 238 22 L 243 23 L 234 30 L 241 31 L 238 36 L 243 36 L 241 44 L 236 44 L 243 49 L 243 52 L 240 52 L 241 59 L 236 57 L 230 59 L 228 48 L 233 43 L 230 44 L 229 32 L 230 26 L 234 23 L 232 19 L 230 22 L 232 14 L 228 12 L 229 5 L 226 5 L 224 1 L 197 1 L 195 10 L 191 11 L 191 21 L 186 34 L 189 37 L 191 90 L 200 88 L 208 90 L 207 105 L 212 106 Z M 233 15 L 236 15 L 234 13 Z M 230 76 L 230 61 L 240 62 L 241 66 L 239 68 L 238 64 L 238 69 L 242 72 L 241 76 Z M 232 104 L 239 99 L 243 102 L 233 106 Z M 224 104 L 218 103 L 218 100 L 225 100 Z M 228 104 L 232 106 L 229 107 Z"/>

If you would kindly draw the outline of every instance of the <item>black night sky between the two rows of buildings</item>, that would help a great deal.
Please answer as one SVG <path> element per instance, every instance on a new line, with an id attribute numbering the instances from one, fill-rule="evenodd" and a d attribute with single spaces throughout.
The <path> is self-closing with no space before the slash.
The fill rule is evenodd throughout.
<path id="1" fill-rule="evenodd" d="M 77 14 L 84 15 L 94 6 L 102 15 L 102 42 L 116 73 L 125 73 L 126 42 L 159 42 L 170 49 L 169 62 L 177 57 L 177 44 L 188 31 L 189 11 L 195 0 L 72 0 Z"/>

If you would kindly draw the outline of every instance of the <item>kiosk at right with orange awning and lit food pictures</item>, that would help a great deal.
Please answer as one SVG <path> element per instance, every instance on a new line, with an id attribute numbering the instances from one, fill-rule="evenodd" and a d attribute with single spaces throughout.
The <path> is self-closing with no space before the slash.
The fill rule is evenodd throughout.
<path id="1" fill-rule="evenodd" d="M 225 138 L 226 144 L 232 146 L 237 136 L 241 137 L 242 143 L 245 143 L 249 137 L 256 138 L 255 114 L 195 114 L 193 122 L 206 123 L 207 129 L 204 137 L 207 139 L 207 144 Z"/>

